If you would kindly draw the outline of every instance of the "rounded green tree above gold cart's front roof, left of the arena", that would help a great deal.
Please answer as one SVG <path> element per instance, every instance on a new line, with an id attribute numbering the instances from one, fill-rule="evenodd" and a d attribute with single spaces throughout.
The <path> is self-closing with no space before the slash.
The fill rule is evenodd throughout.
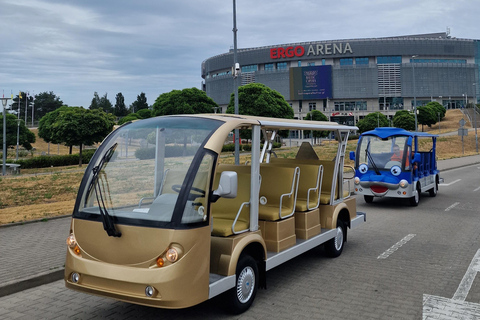
<path id="1" fill-rule="evenodd" d="M 155 100 L 153 111 L 157 116 L 213 113 L 214 107 L 218 105 L 204 91 L 190 88 L 162 93 Z"/>

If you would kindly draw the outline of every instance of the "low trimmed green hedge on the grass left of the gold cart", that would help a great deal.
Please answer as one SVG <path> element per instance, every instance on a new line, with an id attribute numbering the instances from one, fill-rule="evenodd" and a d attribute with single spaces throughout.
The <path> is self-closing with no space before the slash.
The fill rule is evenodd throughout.
<path id="1" fill-rule="evenodd" d="M 95 149 L 87 149 L 82 151 L 82 162 L 88 163 L 92 158 Z M 47 167 L 63 167 L 78 165 L 79 154 L 69 154 L 63 156 L 39 156 L 30 159 L 20 159 L 17 161 L 9 161 L 20 165 L 22 169 L 47 168 Z"/>

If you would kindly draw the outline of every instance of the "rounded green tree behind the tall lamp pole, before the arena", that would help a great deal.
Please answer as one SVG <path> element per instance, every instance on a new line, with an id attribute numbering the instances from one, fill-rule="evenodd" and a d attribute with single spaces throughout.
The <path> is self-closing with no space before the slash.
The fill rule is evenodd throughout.
<path id="1" fill-rule="evenodd" d="M 230 96 L 227 113 L 234 113 L 234 95 Z M 238 113 L 251 116 L 293 119 L 293 109 L 285 98 L 261 83 L 238 88 Z"/>

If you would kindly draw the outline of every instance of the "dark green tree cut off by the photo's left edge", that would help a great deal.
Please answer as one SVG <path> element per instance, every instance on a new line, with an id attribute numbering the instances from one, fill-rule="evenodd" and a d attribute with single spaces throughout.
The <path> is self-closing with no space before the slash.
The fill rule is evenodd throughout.
<path id="1" fill-rule="evenodd" d="M 32 149 L 35 142 L 35 134 L 28 130 L 24 120 L 18 120 L 14 114 L 6 114 L 6 144 L 7 148 L 17 145 L 17 129 L 19 129 L 18 143 L 27 150 Z M 18 128 L 17 128 L 18 127 Z M 0 141 L 3 141 L 3 115 L 0 114 Z"/>

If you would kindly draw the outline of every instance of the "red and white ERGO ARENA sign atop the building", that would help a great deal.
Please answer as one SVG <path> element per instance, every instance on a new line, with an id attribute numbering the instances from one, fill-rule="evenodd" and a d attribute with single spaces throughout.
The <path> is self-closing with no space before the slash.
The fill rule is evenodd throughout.
<path id="1" fill-rule="evenodd" d="M 309 45 L 307 56 L 328 56 L 334 54 L 353 53 L 350 43 L 324 43 L 317 45 Z M 303 57 L 305 48 L 303 46 L 296 47 L 279 47 L 270 49 L 271 59 Z"/>

